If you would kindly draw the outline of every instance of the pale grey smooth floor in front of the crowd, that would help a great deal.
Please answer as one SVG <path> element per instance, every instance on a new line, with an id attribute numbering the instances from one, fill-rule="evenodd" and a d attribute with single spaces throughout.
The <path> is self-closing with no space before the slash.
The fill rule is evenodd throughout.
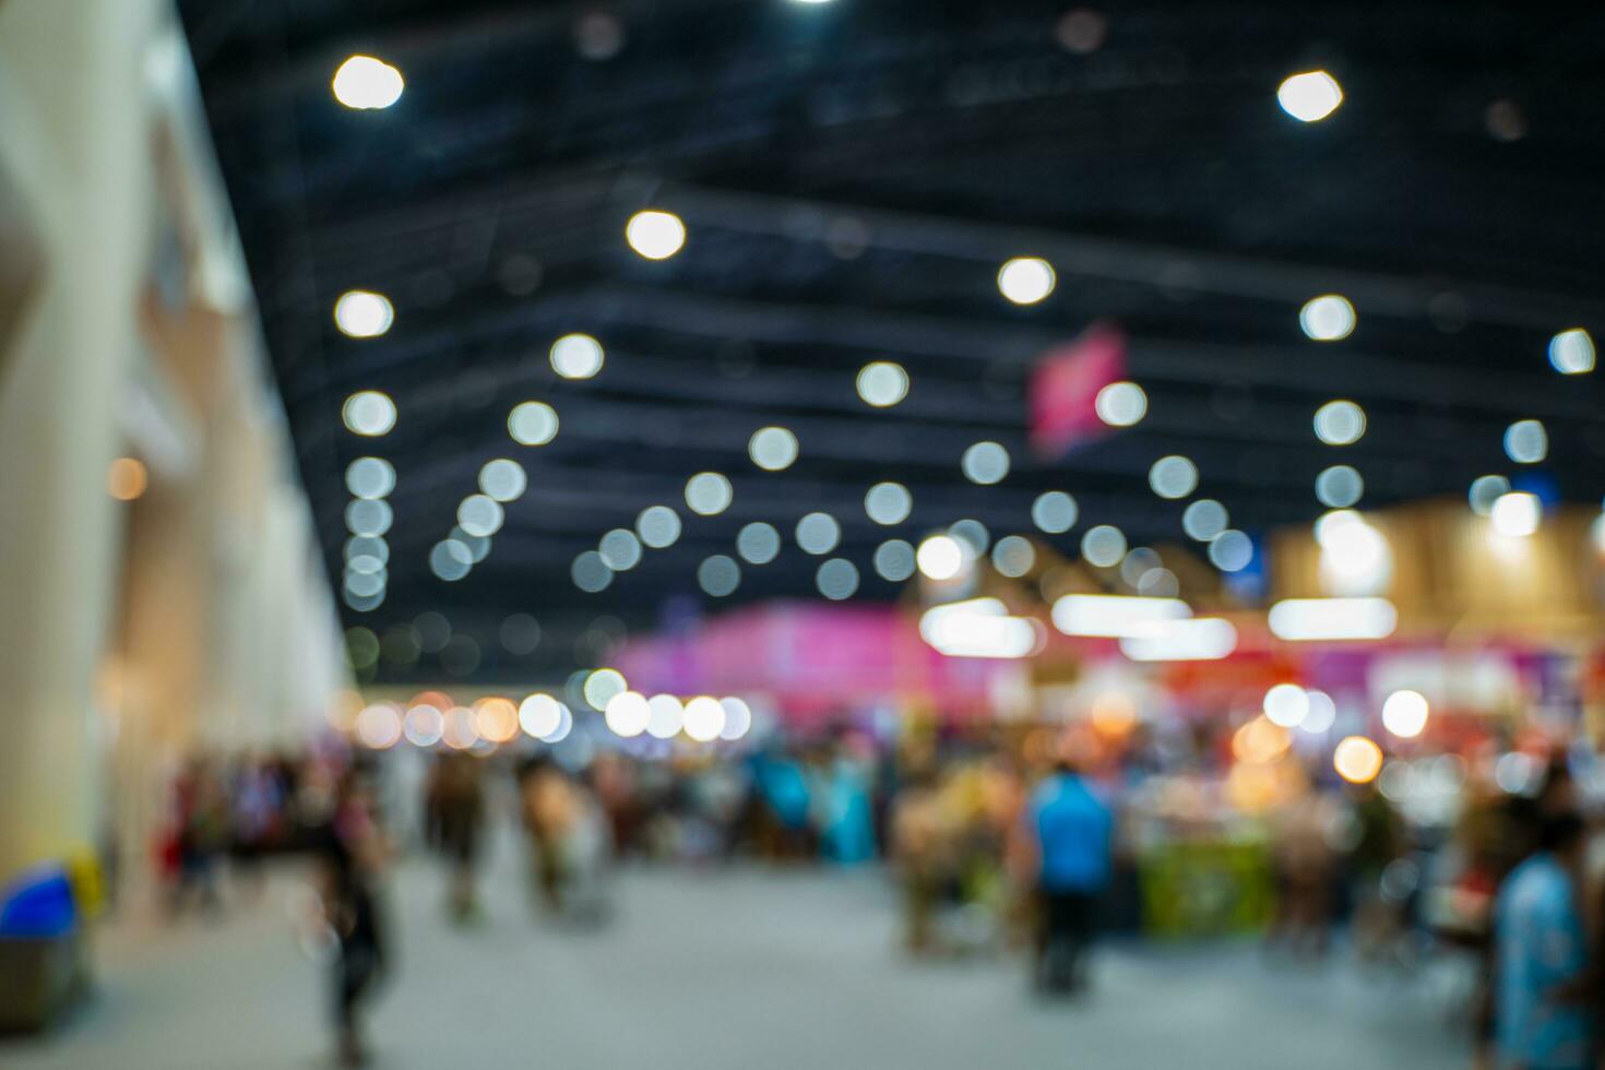
<path id="1" fill-rule="evenodd" d="M 1266 964 L 1245 945 L 1106 946 L 1096 990 L 1043 1004 L 1018 961 L 910 963 L 875 874 L 631 871 L 600 932 L 531 919 L 512 850 L 486 918 L 445 924 L 440 876 L 392 887 L 400 963 L 377 1001 L 377 1067 L 945 1070 L 1469 1062 L 1453 971 L 1412 979 Z M 297 950 L 281 876 L 221 922 L 124 922 L 100 995 L 48 1041 L 0 1041 L 0 1067 L 331 1065 L 324 982 Z M 1441 975 L 1440 975 L 1441 974 Z"/>

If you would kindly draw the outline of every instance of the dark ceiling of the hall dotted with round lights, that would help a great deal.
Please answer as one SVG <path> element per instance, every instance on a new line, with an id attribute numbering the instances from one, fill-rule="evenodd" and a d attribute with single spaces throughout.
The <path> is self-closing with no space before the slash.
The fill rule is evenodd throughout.
<path id="1" fill-rule="evenodd" d="M 889 600 L 897 587 L 870 568 L 881 539 L 961 517 L 1029 533 L 1050 488 L 1082 505 L 1054 539 L 1069 555 L 1090 523 L 1183 541 L 1184 502 L 1148 486 L 1173 452 L 1250 533 L 1316 517 L 1313 480 L 1337 460 L 1364 473 L 1366 505 L 1515 475 L 1501 438 L 1522 417 L 1547 425 L 1539 478 L 1555 494 L 1605 492 L 1602 375 L 1562 377 L 1546 358 L 1558 329 L 1605 330 L 1602 8 L 1176 2 L 1071 21 L 1072 5 L 977 0 L 181 8 L 335 584 L 347 464 L 372 452 L 400 475 L 388 597 L 348 622 L 382 634 L 438 610 L 478 637 L 473 677 L 584 663 L 575 640 L 599 616 L 639 630 L 672 605 L 811 597 L 819 558 L 790 537 L 809 510 L 841 520 L 859 597 Z M 616 51 L 586 58 L 581 43 Z M 404 72 L 395 107 L 334 101 L 351 53 Z M 1347 96 L 1300 124 L 1276 87 L 1310 67 Z M 672 260 L 623 241 L 648 205 L 689 226 Z M 993 281 L 1021 253 L 1059 273 L 1030 308 Z M 385 337 L 335 330 L 331 308 L 353 287 L 393 302 Z M 1358 310 L 1343 342 L 1300 332 L 1300 305 L 1326 292 Z M 1030 363 L 1099 319 L 1127 330 L 1149 415 L 1035 460 Z M 547 348 L 570 330 L 607 347 L 597 379 L 554 375 Z M 881 358 L 913 379 L 888 411 L 854 391 Z M 368 388 L 396 401 L 385 438 L 340 422 Z M 1339 396 L 1369 414 L 1345 449 L 1311 433 Z M 507 435 L 530 398 L 562 415 L 549 446 Z M 748 460 L 767 424 L 801 438 L 786 472 Z M 982 438 L 1014 457 L 1000 486 L 960 475 Z M 530 491 L 490 557 L 443 582 L 429 550 L 501 456 L 526 467 Z M 684 509 L 701 470 L 733 481 L 727 513 Z M 899 529 L 863 515 L 880 480 L 913 491 Z M 605 592 L 578 590 L 575 557 L 650 504 L 676 505 L 684 537 Z M 733 553 L 751 520 L 775 523 L 786 549 L 748 566 L 732 598 L 703 597 L 697 565 Z M 531 656 L 496 648 L 512 613 L 547 629 Z"/>

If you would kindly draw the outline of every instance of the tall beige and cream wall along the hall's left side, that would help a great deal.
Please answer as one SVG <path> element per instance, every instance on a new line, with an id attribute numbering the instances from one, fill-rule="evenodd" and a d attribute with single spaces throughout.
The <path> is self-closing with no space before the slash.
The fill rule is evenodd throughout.
<path id="1" fill-rule="evenodd" d="M 0 130 L 3 881 L 148 857 L 180 756 L 303 738 L 348 671 L 165 0 L 0 3 Z"/>

